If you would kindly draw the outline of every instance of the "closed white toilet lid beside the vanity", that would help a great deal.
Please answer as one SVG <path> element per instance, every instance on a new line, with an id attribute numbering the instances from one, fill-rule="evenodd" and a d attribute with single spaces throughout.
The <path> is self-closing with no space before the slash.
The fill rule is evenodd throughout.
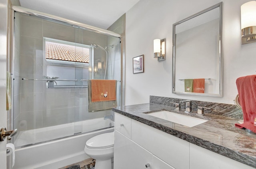
<path id="1" fill-rule="evenodd" d="M 86 141 L 86 147 L 90 149 L 104 149 L 114 146 L 114 132 L 96 135 Z"/>

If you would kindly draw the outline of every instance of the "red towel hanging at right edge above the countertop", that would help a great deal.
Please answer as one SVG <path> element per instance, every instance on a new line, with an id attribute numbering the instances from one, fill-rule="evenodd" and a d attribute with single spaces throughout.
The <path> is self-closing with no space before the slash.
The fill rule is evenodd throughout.
<path id="1" fill-rule="evenodd" d="M 235 126 L 256 133 L 256 75 L 238 78 L 236 86 L 244 115 L 244 123 L 235 124 Z"/>

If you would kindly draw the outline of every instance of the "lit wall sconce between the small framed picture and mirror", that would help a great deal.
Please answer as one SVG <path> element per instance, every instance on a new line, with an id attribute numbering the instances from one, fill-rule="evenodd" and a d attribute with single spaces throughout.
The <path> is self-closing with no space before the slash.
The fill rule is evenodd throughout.
<path id="1" fill-rule="evenodd" d="M 158 61 L 165 60 L 165 38 L 154 40 L 154 58 Z"/>

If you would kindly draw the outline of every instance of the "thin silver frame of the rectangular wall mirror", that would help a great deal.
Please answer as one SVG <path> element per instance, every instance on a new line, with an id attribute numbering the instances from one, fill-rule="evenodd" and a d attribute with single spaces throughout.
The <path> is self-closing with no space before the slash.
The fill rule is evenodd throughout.
<path id="1" fill-rule="evenodd" d="M 190 20 L 192 18 L 195 18 L 196 16 L 199 16 L 201 14 L 204 14 L 210 10 L 213 10 L 215 8 L 220 8 L 220 83 L 219 83 L 219 93 L 189 93 L 189 92 L 180 92 L 180 91 L 175 91 L 175 62 L 176 62 L 176 33 L 175 33 L 175 26 L 178 24 L 181 24 L 183 22 L 186 22 L 187 20 Z M 172 27 L 172 93 L 176 94 L 187 94 L 187 95 L 202 95 L 202 96 L 213 96 L 213 97 L 222 97 L 222 83 L 223 83 L 223 30 L 222 30 L 222 10 L 223 10 L 223 2 L 220 2 L 214 6 L 211 6 L 205 10 L 202 10 L 201 12 L 198 12 L 188 18 L 185 18 L 179 22 L 176 22 L 173 24 Z"/>

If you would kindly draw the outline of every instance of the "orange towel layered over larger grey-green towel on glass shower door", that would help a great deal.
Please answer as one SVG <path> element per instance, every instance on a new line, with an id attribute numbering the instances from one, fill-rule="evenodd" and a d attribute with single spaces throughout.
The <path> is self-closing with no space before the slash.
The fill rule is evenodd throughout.
<path id="1" fill-rule="evenodd" d="M 91 80 L 92 102 L 116 100 L 116 80 Z"/>

